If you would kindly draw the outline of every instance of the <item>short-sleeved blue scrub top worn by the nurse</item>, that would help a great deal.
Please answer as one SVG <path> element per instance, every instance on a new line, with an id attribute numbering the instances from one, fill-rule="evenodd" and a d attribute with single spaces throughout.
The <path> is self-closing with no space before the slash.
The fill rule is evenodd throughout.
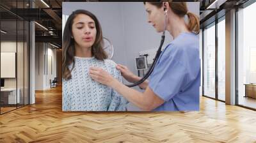
<path id="1" fill-rule="evenodd" d="M 199 110 L 199 37 L 181 33 L 161 53 L 148 86 L 164 100 L 156 111 Z"/>

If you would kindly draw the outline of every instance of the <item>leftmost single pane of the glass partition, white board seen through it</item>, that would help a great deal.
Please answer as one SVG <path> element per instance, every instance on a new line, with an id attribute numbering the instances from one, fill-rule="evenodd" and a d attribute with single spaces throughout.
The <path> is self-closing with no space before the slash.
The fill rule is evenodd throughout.
<path id="1" fill-rule="evenodd" d="M 3 32 L 4 31 L 4 32 Z M 17 22 L 1 21 L 1 113 L 17 108 Z"/>

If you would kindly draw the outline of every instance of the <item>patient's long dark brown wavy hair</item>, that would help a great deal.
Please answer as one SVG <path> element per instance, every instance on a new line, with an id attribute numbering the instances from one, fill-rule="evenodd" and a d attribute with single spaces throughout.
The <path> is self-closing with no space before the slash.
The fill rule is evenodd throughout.
<path id="1" fill-rule="evenodd" d="M 63 50 L 62 50 L 62 75 L 65 80 L 71 79 L 71 71 L 74 68 L 75 61 L 74 56 L 76 53 L 75 49 L 75 40 L 72 38 L 72 24 L 73 20 L 76 18 L 77 15 L 84 14 L 88 15 L 88 17 L 91 17 L 95 22 L 96 27 L 96 38 L 92 45 L 92 56 L 94 56 L 96 59 L 99 59 L 101 61 L 104 61 L 104 59 L 107 59 L 107 54 L 103 50 L 103 38 L 102 38 L 102 29 L 99 23 L 99 20 L 93 13 L 87 10 L 76 10 L 73 11 L 72 14 L 68 17 L 64 32 L 63 32 Z M 70 64 L 72 64 L 71 70 L 68 68 Z"/>

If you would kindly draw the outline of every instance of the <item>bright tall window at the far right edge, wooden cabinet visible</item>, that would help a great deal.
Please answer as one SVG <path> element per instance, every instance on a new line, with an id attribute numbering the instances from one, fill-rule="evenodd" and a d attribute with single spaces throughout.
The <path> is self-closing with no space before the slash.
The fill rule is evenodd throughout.
<path id="1" fill-rule="evenodd" d="M 256 3 L 237 11 L 238 105 L 256 109 Z"/>

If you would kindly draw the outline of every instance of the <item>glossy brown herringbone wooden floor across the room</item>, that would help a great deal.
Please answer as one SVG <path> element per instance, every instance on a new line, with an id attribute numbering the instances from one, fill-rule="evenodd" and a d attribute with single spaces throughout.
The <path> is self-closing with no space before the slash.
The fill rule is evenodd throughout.
<path id="1" fill-rule="evenodd" d="M 256 142 L 256 112 L 200 98 L 199 112 L 62 112 L 61 88 L 0 116 L 0 142 Z"/>

